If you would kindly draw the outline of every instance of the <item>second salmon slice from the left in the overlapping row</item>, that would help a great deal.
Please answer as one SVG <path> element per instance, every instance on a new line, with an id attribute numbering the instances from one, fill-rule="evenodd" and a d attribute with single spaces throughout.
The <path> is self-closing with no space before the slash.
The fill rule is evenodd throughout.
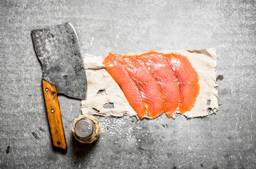
<path id="1" fill-rule="evenodd" d="M 138 86 L 149 118 L 161 115 L 164 112 L 164 100 L 146 64 L 135 56 L 123 56 L 119 61 Z"/>

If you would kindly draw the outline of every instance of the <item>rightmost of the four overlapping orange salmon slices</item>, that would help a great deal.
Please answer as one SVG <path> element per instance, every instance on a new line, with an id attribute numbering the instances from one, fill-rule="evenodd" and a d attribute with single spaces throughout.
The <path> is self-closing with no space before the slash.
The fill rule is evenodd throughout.
<path id="1" fill-rule="evenodd" d="M 169 53 L 164 57 L 175 72 L 179 87 L 178 109 L 181 114 L 190 111 L 195 105 L 200 91 L 198 73 L 192 67 L 188 58 L 177 53 Z"/>

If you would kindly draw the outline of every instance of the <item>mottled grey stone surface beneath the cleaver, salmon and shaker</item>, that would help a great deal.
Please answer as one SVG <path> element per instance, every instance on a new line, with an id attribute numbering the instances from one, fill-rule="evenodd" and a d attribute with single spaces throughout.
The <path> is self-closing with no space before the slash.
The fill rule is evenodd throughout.
<path id="1" fill-rule="evenodd" d="M 1 0 L 0 22 L 0 168 L 256 168 L 255 0 Z M 80 101 L 59 96 L 68 150 L 54 151 L 30 32 L 64 22 L 82 54 L 216 48 L 217 114 L 124 120 L 83 145 Z"/>

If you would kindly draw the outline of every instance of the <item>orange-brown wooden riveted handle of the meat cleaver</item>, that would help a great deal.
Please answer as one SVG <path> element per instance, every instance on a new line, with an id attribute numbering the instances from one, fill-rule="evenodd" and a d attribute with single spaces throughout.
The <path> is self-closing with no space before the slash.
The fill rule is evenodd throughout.
<path id="1" fill-rule="evenodd" d="M 66 150 L 67 142 L 61 119 L 61 109 L 58 103 L 57 89 L 54 85 L 42 80 L 45 107 L 47 111 L 52 145 L 55 148 Z"/>

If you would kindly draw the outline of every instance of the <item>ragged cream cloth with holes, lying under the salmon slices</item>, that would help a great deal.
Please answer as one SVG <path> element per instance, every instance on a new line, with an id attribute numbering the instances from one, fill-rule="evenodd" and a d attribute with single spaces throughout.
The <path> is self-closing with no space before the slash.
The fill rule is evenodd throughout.
<path id="1" fill-rule="evenodd" d="M 218 109 L 218 91 L 215 88 L 217 86 L 216 50 L 208 48 L 193 51 L 168 50 L 157 52 L 180 53 L 189 59 L 195 71 L 198 72 L 200 93 L 191 111 L 187 111 L 183 115 L 187 118 L 194 118 L 206 117 L 216 113 Z M 141 53 L 145 52 L 127 53 L 126 55 Z M 87 99 L 81 101 L 82 114 L 115 117 L 124 115 L 137 116 L 120 87 L 102 64 L 105 57 L 85 54 L 83 58 L 88 82 L 88 93 Z M 106 103 L 113 104 L 113 108 L 104 108 Z M 173 118 L 177 116 L 177 113 L 178 111 L 174 113 Z"/>

